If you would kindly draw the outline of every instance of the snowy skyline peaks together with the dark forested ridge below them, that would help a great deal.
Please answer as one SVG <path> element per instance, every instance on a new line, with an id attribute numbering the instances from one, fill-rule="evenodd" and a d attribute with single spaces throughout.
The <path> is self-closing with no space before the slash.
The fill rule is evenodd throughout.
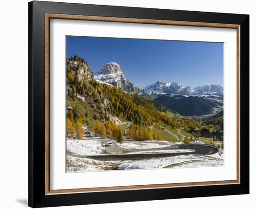
<path id="1" fill-rule="evenodd" d="M 191 88 L 176 82 L 157 81 L 154 84 L 135 86 L 115 62 L 107 63 L 94 72 L 96 81 L 115 86 L 126 93 L 137 93 L 154 99 L 167 108 L 184 116 L 206 115 L 223 109 L 223 87 L 221 85 L 203 85 Z"/>

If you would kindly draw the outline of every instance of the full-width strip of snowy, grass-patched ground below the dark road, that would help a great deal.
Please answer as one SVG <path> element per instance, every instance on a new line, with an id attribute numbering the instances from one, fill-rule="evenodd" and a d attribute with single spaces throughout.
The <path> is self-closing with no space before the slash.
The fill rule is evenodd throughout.
<path id="1" fill-rule="evenodd" d="M 67 156 L 67 172 L 223 166 L 223 155 L 188 155 L 136 161 L 98 161 Z"/>

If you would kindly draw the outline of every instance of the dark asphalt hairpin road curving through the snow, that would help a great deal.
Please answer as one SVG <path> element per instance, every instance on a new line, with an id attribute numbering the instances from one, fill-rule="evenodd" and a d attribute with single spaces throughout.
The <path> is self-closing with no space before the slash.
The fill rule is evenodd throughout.
<path id="1" fill-rule="evenodd" d="M 168 150 L 168 149 L 191 149 L 195 150 L 193 152 L 177 152 L 177 153 L 145 153 L 145 154 L 118 154 L 118 155 L 95 155 L 95 156 L 82 156 L 85 158 L 90 158 L 94 160 L 138 160 L 147 159 L 155 157 L 173 157 L 179 155 L 212 155 L 217 153 L 219 150 L 215 146 L 210 146 L 206 144 L 177 144 L 170 147 L 159 148 L 158 150 Z M 145 149 L 145 151 L 147 151 Z"/>

